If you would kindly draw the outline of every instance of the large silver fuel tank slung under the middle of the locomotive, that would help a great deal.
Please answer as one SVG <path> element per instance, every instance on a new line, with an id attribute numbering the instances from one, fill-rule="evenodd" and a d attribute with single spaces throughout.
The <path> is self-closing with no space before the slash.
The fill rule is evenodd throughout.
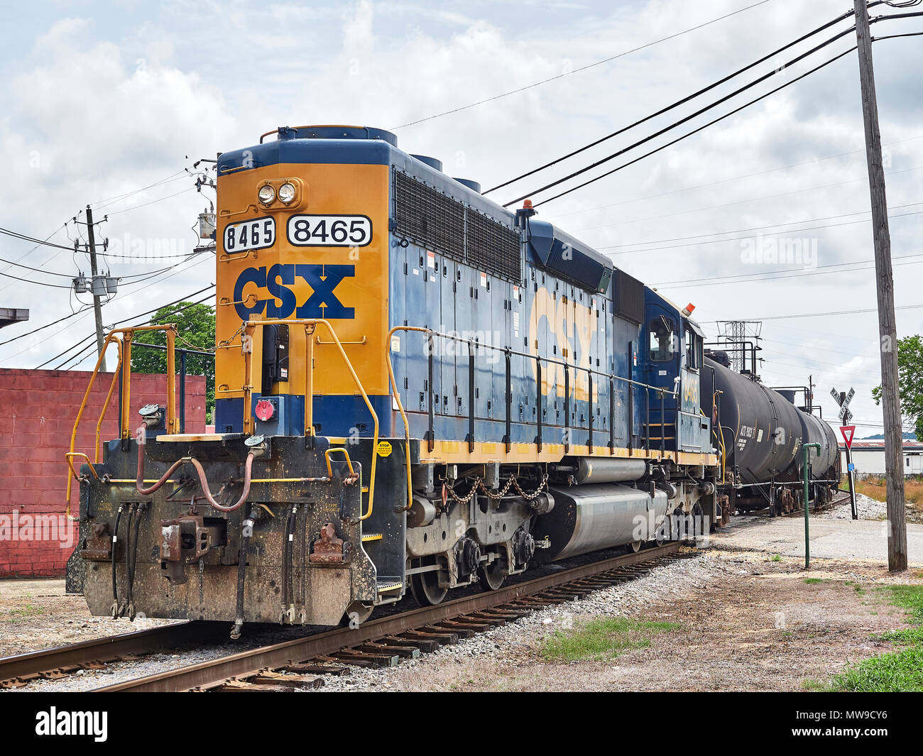
<path id="1" fill-rule="evenodd" d="M 533 527 L 536 539 L 551 542 L 535 552 L 539 563 L 650 540 L 666 513 L 666 493 L 660 489 L 653 498 L 647 491 L 608 483 L 549 490 L 555 509 Z"/>

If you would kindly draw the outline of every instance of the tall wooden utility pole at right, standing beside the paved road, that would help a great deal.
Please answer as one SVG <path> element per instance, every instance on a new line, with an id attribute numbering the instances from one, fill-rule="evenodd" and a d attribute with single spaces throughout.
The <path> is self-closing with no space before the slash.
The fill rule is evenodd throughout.
<path id="1" fill-rule="evenodd" d="M 891 268 L 891 234 L 888 202 L 881 165 L 881 132 L 875 72 L 871 60 L 871 33 L 866 0 L 854 0 L 859 83 L 865 123 L 866 159 L 869 163 L 871 221 L 875 238 L 875 282 L 878 289 L 878 330 L 881 342 L 881 406 L 884 414 L 884 472 L 888 497 L 888 569 L 907 569 L 907 525 L 904 502 L 904 426 L 897 379 L 897 326 L 894 322 L 894 280 Z"/>

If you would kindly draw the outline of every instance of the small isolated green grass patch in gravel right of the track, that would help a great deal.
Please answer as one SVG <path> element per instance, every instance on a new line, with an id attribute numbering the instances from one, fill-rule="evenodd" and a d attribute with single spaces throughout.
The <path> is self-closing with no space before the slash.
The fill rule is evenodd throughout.
<path id="1" fill-rule="evenodd" d="M 631 649 L 647 648 L 654 635 L 678 627 L 676 622 L 593 619 L 570 630 L 557 630 L 545 639 L 541 653 L 549 661 L 611 659 Z"/>

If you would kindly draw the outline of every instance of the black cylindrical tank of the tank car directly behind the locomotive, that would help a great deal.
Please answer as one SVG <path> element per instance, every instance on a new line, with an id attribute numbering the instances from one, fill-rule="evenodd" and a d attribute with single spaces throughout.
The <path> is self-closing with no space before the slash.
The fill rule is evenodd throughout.
<path id="1" fill-rule="evenodd" d="M 725 467 L 737 469 L 745 485 L 797 480 L 801 470 L 803 433 L 797 407 L 778 391 L 763 386 L 705 357 L 703 374 L 714 370 L 719 394 Z M 702 392 L 702 409 L 711 411 L 711 398 Z"/>

